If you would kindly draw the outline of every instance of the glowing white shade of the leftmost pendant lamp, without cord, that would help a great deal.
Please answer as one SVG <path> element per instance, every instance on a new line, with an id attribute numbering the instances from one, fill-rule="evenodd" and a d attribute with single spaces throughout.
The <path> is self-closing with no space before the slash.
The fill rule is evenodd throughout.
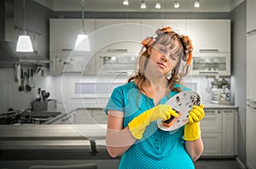
<path id="1" fill-rule="evenodd" d="M 33 52 L 32 42 L 29 36 L 20 35 L 18 38 L 16 52 Z"/>

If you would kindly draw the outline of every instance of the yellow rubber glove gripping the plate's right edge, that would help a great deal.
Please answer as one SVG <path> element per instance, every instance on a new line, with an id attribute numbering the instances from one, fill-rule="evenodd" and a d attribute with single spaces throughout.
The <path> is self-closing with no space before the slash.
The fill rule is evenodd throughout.
<path id="1" fill-rule="evenodd" d="M 203 108 L 203 104 L 200 106 L 193 105 L 193 109 L 189 111 L 189 122 L 185 125 L 184 129 L 184 140 L 195 141 L 201 137 L 199 121 L 201 121 L 205 116 L 205 111 Z"/>

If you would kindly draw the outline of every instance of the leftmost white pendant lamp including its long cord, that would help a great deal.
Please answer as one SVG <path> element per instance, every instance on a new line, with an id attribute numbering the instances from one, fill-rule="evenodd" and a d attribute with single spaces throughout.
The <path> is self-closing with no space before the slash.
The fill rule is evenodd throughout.
<path id="1" fill-rule="evenodd" d="M 33 52 L 31 38 L 26 35 L 26 0 L 23 0 L 23 32 L 24 35 L 18 37 L 16 52 Z"/>

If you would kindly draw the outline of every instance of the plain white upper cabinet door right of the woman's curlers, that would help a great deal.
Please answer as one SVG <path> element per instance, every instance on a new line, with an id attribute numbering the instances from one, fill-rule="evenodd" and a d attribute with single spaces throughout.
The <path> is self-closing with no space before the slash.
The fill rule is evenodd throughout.
<path id="1" fill-rule="evenodd" d="M 187 20 L 194 52 L 230 53 L 230 20 Z"/>

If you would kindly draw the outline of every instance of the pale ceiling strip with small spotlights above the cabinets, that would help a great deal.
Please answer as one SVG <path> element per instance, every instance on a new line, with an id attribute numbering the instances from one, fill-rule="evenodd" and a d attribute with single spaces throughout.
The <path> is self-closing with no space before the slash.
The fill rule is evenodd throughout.
<path id="1" fill-rule="evenodd" d="M 54 11 L 81 11 L 82 0 L 34 0 Z M 142 0 L 84 0 L 84 11 L 90 12 L 230 12 L 245 0 L 199 0 L 200 8 L 194 8 L 195 0 L 177 0 L 180 8 L 173 8 L 175 0 L 160 0 L 160 9 L 154 8 L 157 0 L 144 0 L 147 8 L 140 8 Z"/>

